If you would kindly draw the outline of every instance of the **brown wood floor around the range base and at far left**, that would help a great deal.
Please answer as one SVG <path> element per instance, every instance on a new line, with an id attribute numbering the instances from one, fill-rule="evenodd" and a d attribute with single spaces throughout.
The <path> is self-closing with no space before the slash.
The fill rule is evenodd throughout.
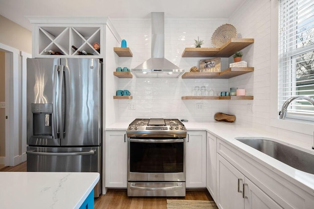
<path id="1" fill-rule="evenodd" d="M 26 171 L 26 162 L 5 167 L 0 172 Z M 126 189 L 108 189 L 105 195 L 95 198 L 95 209 L 166 209 L 167 199 L 212 200 L 207 189 L 186 190 L 185 197 L 128 197 Z"/>

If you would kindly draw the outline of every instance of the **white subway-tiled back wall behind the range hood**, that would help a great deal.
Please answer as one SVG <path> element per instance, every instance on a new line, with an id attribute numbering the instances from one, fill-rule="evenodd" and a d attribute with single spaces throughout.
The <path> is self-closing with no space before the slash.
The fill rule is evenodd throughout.
<path id="1" fill-rule="evenodd" d="M 151 57 L 150 19 L 111 19 L 122 39 L 127 41 L 133 57 L 120 57 L 119 66 L 134 68 Z M 202 58 L 181 57 L 185 47 L 194 47 L 194 39 L 199 36 L 212 47 L 210 38 L 214 30 L 226 19 L 167 19 L 165 18 L 165 58 L 189 72 L 199 66 Z M 228 58 L 222 58 L 222 69 L 228 68 Z M 116 66 L 118 67 L 118 66 Z M 119 100 L 117 121 L 131 122 L 135 118 L 165 117 L 188 119 L 190 121 L 213 121 L 218 112 L 228 113 L 228 101 L 182 100 L 191 96 L 194 86 L 205 85 L 216 93 L 228 90 L 228 79 L 182 79 L 180 78 L 119 78 L 118 89 L 128 89 L 132 100 Z M 115 90 L 118 90 L 115 89 Z M 129 103 L 135 110 L 129 110 Z M 196 110 L 196 103 L 203 103 L 203 110 Z"/>

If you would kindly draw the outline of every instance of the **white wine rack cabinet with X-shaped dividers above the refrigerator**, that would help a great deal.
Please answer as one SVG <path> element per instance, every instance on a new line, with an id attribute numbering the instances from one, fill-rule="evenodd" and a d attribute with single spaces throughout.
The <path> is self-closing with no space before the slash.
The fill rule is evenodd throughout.
<path id="1" fill-rule="evenodd" d="M 49 16 L 28 16 L 27 18 L 33 27 L 33 57 L 104 58 L 106 27 L 114 31 L 118 41 L 121 39 L 108 18 Z M 100 45 L 99 50 L 94 49 L 94 43 Z M 49 50 L 59 52 L 59 55 L 46 53 Z M 81 55 L 78 51 L 85 51 L 87 54 Z"/>

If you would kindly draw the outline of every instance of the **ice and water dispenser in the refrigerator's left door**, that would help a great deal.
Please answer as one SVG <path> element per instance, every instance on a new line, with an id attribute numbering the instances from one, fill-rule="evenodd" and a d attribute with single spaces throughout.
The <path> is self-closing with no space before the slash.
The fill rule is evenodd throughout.
<path id="1" fill-rule="evenodd" d="M 31 104 L 33 137 L 52 138 L 52 104 Z"/>

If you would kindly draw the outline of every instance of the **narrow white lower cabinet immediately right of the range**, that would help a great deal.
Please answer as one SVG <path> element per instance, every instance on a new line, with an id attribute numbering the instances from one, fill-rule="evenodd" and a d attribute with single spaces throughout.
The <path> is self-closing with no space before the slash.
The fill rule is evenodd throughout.
<path id="1" fill-rule="evenodd" d="M 206 131 L 187 131 L 186 187 L 206 187 Z"/>

